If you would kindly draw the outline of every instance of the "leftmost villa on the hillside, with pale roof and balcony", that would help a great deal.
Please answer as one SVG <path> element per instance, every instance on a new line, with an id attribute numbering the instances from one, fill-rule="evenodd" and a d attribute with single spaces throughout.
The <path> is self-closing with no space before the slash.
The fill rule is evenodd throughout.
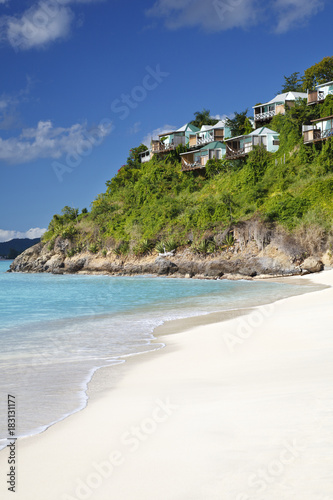
<path id="1" fill-rule="evenodd" d="M 176 149 L 177 146 L 186 144 L 190 141 L 190 135 L 198 132 L 200 129 L 191 123 L 186 123 L 177 130 L 160 134 L 157 140 L 151 141 L 151 148 L 140 153 L 141 163 L 151 160 L 154 154 L 167 153 Z"/>

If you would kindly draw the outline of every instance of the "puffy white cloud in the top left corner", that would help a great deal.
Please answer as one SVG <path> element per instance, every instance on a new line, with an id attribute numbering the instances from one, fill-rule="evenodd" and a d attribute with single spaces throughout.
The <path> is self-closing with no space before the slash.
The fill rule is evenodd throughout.
<path id="1" fill-rule="evenodd" d="M 45 48 L 69 36 L 75 17 L 70 4 L 99 1 L 102 0 L 40 0 L 21 14 L 2 16 L 0 37 L 16 50 Z"/>

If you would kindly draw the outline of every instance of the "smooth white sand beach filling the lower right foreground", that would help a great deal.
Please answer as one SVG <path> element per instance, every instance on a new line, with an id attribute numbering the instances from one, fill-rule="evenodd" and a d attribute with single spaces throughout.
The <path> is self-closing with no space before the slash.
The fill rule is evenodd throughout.
<path id="1" fill-rule="evenodd" d="M 15 495 L 0 452 L 0 498 L 333 499 L 332 305 L 288 298 L 100 370 L 83 411 L 17 442 Z"/>

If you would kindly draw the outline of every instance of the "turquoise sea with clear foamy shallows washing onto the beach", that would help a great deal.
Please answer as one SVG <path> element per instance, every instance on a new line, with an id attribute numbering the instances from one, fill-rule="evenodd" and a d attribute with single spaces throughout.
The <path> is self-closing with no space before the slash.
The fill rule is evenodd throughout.
<path id="1" fill-rule="evenodd" d="M 45 430 L 86 405 L 102 366 L 162 348 L 163 322 L 239 309 L 304 293 L 267 281 L 189 280 L 6 273 L 0 261 L 0 449 L 7 394 L 17 401 L 17 436 Z"/>

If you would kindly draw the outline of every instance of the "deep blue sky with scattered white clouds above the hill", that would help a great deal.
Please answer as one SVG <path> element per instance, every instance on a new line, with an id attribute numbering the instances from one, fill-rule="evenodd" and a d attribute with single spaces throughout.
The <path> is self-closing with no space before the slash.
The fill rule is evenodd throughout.
<path id="1" fill-rule="evenodd" d="M 0 0 L 0 241 L 89 208 L 195 111 L 273 98 L 332 55 L 332 19 L 329 0 Z"/>

